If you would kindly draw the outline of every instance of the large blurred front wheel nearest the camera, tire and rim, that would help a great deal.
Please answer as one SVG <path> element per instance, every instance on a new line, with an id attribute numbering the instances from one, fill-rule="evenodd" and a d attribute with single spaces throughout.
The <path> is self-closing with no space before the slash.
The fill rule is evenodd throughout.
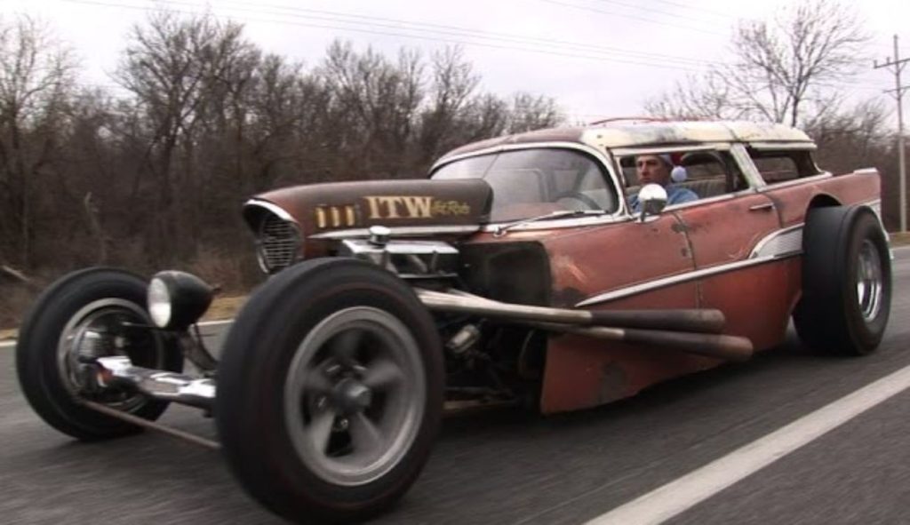
<path id="1" fill-rule="evenodd" d="M 260 288 L 218 371 L 228 464 L 290 520 L 361 520 L 410 487 L 440 425 L 444 374 L 429 312 L 388 271 L 308 261 Z"/>

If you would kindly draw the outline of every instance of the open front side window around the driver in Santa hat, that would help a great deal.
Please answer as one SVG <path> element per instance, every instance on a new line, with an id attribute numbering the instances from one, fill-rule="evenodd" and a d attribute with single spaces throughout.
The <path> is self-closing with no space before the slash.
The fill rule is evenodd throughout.
<path id="1" fill-rule="evenodd" d="M 654 155 L 663 159 L 669 157 L 671 161 L 670 178 L 664 184 L 665 187 L 691 190 L 699 199 L 718 197 L 748 187 L 742 171 L 729 152 L 693 150 L 649 154 Z M 629 195 L 637 194 L 641 187 L 640 168 L 636 166 L 636 159 L 643 156 L 623 156 L 620 159 Z"/>

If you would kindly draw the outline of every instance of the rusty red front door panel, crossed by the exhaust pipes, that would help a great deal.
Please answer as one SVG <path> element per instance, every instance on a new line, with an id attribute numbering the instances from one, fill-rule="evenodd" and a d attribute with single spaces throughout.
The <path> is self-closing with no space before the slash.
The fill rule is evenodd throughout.
<path id="1" fill-rule="evenodd" d="M 585 228 L 542 242 L 551 259 L 554 306 L 562 308 L 693 270 L 682 224 L 672 214 L 644 224 L 626 221 Z M 588 308 L 693 308 L 695 290 L 695 283 L 689 281 Z M 554 335 L 547 346 L 541 410 L 552 413 L 593 407 L 717 362 L 662 348 Z"/>

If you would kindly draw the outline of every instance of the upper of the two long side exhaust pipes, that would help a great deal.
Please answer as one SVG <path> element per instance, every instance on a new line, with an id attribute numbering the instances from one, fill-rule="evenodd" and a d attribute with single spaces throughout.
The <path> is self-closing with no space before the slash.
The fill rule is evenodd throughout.
<path id="1" fill-rule="evenodd" d="M 622 327 L 719 334 L 726 319 L 723 312 L 708 308 L 590 311 L 534 307 L 503 303 L 451 290 L 449 293 L 417 289 L 417 296 L 430 310 L 474 314 L 516 322 L 559 323 L 587 327 Z"/>

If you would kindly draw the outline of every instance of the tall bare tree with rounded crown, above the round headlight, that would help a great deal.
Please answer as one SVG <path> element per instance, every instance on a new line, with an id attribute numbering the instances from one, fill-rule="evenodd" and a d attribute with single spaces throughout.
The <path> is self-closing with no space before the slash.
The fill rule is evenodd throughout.
<path id="1" fill-rule="evenodd" d="M 136 173 L 130 200 L 142 208 L 147 199 L 140 198 L 140 189 L 144 176 L 150 176 L 147 187 L 155 189 L 155 198 L 148 211 L 155 217 L 157 253 L 196 249 L 191 239 L 198 233 L 202 187 L 194 169 L 197 127 L 213 114 L 213 106 L 223 109 L 227 93 L 243 84 L 246 73 L 232 73 L 248 71 L 248 61 L 255 60 L 250 53 L 242 26 L 219 23 L 211 15 L 181 19 L 159 12 L 147 25 L 133 28 L 115 77 L 136 97 L 147 126 L 144 169 Z"/>

